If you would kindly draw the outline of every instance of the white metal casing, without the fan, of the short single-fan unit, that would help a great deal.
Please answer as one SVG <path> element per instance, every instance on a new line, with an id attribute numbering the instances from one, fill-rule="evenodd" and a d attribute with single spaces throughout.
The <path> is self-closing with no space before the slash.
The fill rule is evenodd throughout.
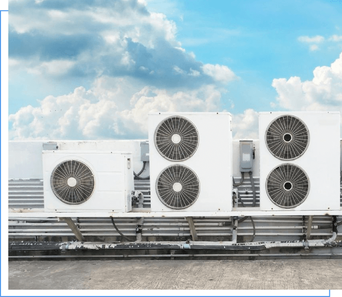
<path id="1" fill-rule="evenodd" d="M 94 190 L 80 204 L 68 204 L 51 189 L 53 169 L 63 161 L 85 163 L 94 175 Z M 46 212 L 130 212 L 134 190 L 131 152 L 43 151 L 44 209 Z"/>

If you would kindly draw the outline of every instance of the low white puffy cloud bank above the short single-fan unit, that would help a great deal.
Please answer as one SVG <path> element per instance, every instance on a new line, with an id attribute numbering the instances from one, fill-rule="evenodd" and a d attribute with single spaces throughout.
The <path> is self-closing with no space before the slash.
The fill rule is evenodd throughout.
<path id="1" fill-rule="evenodd" d="M 113 85 L 101 77 L 89 90 L 47 96 L 40 106 L 21 108 L 9 116 L 13 139 L 116 139 L 147 137 L 147 115 L 160 112 L 217 111 L 221 93 L 214 85 L 171 92 L 145 86 L 133 95 L 131 82 L 121 78 Z"/>

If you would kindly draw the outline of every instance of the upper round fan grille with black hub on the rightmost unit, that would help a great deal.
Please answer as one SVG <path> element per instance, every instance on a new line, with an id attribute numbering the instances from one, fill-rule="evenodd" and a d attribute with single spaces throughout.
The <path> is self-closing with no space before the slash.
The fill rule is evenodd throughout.
<path id="1" fill-rule="evenodd" d="M 297 117 L 285 115 L 276 118 L 266 130 L 268 150 L 280 160 L 294 160 L 306 151 L 309 130 Z"/>

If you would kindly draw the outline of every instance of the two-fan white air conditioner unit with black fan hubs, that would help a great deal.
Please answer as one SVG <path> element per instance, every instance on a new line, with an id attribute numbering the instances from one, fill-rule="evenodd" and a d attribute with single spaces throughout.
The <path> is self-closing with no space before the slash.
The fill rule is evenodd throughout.
<path id="1" fill-rule="evenodd" d="M 339 210 L 339 112 L 259 113 L 260 209 Z"/>

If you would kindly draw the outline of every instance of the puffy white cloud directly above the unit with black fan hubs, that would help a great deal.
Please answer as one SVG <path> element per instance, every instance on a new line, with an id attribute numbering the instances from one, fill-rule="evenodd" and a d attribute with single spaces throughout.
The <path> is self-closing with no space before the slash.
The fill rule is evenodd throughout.
<path id="1" fill-rule="evenodd" d="M 300 77 L 273 79 L 277 103 L 295 111 L 340 111 L 342 113 L 342 53 L 330 66 L 318 66 L 313 79 L 301 81 Z"/>

